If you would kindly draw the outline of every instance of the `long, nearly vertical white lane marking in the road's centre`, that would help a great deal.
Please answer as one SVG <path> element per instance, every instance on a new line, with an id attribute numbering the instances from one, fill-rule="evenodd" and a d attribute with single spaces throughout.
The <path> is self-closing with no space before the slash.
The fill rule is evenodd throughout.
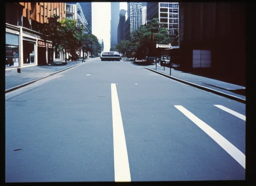
<path id="1" fill-rule="evenodd" d="M 116 84 L 111 84 L 114 168 L 116 182 L 130 182 L 131 173 Z"/>

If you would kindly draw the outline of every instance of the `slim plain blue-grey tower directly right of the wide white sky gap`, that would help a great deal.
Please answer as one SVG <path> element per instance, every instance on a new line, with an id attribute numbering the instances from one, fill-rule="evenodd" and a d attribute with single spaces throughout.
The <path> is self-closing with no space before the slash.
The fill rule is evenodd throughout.
<path id="1" fill-rule="evenodd" d="M 119 22 L 119 2 L 111 2 L 111 47 L 110 50 L 115 50 L 117 45 L 117 29 Z"/>

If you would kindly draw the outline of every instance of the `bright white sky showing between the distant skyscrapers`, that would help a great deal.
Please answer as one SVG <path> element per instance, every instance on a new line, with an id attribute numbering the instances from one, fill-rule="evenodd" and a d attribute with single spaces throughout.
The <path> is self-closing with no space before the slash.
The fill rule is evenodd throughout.
<path id="1" fill-rule="evenodd" d="M 127 10 L 127 2 L 120 2 L 120 9 Z M 103 39 L 104 50 L 110 50 L 110 2 L 92 2 L 92 34 Z"/>

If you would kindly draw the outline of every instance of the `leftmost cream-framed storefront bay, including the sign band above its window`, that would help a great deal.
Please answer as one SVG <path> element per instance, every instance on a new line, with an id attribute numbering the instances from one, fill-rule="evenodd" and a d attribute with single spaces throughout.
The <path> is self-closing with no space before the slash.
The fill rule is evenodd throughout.
<path id="1" fill-rule="evenodd" d="M 20 66 L 20 47 L 19 47 L 20 29 L 14 25 L 6 25 L 5 28 L 5 67 Z"/>

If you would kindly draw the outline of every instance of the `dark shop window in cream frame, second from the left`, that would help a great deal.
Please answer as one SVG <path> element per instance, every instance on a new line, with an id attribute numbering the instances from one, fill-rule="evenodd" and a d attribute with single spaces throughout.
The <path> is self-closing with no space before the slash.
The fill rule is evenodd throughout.
<path id="1" fill-rule="evenodd" d="M 23 40 L 23 64 L 35 63 L 35 48 L 34 42 Z"/>

